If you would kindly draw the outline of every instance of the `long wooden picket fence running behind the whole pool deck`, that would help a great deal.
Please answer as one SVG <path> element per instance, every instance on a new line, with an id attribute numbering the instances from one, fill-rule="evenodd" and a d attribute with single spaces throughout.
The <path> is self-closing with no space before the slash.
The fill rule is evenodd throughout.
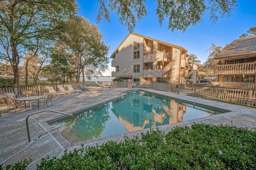
<path id="1" fill-rule="evenodd" d="M 128 87 L 129 82 L 122 81 L 108 81 L 112 87 Z M 87 81 L 82 83 L 86 86 L 100 86 L 101 84 L 107 84 L 106 82 L 94 82 Z M 74 89 L 80 89 L 78 83 L 71 84 Z M 67 90 L 66 85 L 62 84 Z M 168 91 L 171 93 L 191 95 L 194 97 L 202 97 L 205 99 L 216 100 L 216 101 L 227 101 L 232 103 L 241 103 L 249 106 L 256 106 L 256 89 L 245 89 L 245 88 L 231 88 L 231 87 L 220 87 L 220 86 L 203 86 L 203 85 L 185 85 L 185 84 L 171 84 L 171 83 L 156 83 L 156 82 L 132 82 L 132 85 L 136 87 L 148 87 L 150 89 Z M 0 93 L 13 92 L 14 94 L 22 94 L 22 91 L 35 89 L 38 95 L 48 93 L 46 86 L 52 86 L 55 91 L 58 91 L 56 84 L 54 85 L 33 85 L 33 86 L 22 86 L 22 87 L 4 87 L 0 88 Z"/>

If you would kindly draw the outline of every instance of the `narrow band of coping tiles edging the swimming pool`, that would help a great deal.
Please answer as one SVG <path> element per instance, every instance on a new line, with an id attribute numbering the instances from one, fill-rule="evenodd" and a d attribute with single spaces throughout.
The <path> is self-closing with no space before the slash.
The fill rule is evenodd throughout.
<path id="1" fill-rule="evenodd" d="M 127 90 L 126 92 L 128 92 L 128 91 L 138 91 L 138 90 Z M 142 90 L 142 91 L 144 91 L 144 90 Z M 148 92 L 148 91 L 144 91 L 144 92 Z M 152 92 L 149 92 L 149 93 L 152 93 Z M 176 97 L 173 97 L 173 96 L 169 96 L 169 95 L 162 95 L 162 94 L 158 94 L 158 93 L 153 93 L 153 94 L 156 94 L 156 95 L 161 95 L 161 96 L 163 96 L 163 97 L 166 97 L 166 98 L 174 98 L 174 99 L 180 99 L 180 98 L 176 98 Z M 110 99 L 110 100 L 107 100 L 107 101 L 102 101 L 102 102 L 100 102 L 100 103 L 102 103 L 102 104 L 104 104 L 104 103 L 108 103 L 108 102 L 110 102 L 110 101 L 114 101 L 114 100 L 116 100 L 116 99 L 118 99 L 118 98 L 120 98 L 120 97 L 115 97 L 114 99 Z M 184 100 L 184 99 L 180 99 L 180 100 L 182 100 L 182 101 L 186 101 L 186 100 Z M 190 102 L 191 103 L 191 102 Z M 196 102 L 197 103 L 197 102 Z M 199 104 L 199 105 L 201 105 L 201 103 L 197 103 L 197 104 Z M 100 105 L 99 103 L 97 104 L 97 105 Z M 97 107 L 97 105 L 94 105 L 94 106 L 91 106 L 92 108 L 95 108 L 95 107 Z M 205 106 L 207 106 L 207 107 L 209 107 L 209 105 L 205 105 Z M 212 106 L 210 106 L 210 107 L 212 107 Z M 222 109 L 222 108 L 219 108 L 219 107 L 214 107 L 214 108 L 217 108 L 217 109 L 220 109 L 220 110 L 224 110 L 224 109 Z M 82 110 L 84 110 L 84 109 L 82 109 Z M 86 108 L 86 110 L 90 110 L 90 108 L 88 107 L 88 108 Z M 227 110 L 227 109 L 225 109 L 225 112 L 227 112 L 227 111 L 229 111 L 229 110 Z M 78 113 L 78 112 L 76 112 L 76 113 Z M 223 113 L 222 113 L 223 114 Z M 213 117 L 213 116 L 216 116 L 216 115 L 212 115 L 212 116 L 210 116 L 210 117 Z M 197 118 L 197 119 L 192 119 L 192 120 L 188 120 L 188 121 L 182 121 L 182 122 L 179 122 L 179 123 L 177 123 L 177 124 L 184 124 L 184 123 L 186 123 L 186 122 L 190 122 L 190 121 L 198 121 L 198 120 L 203 120 L 203 119 L 206 119 L 207 117 L 202 117 L 202 118 Z M 55 120 L 56 121 L 56 120 Z M 153 129 L 154 128 L 166 128 L 166 127 L 173 127 L 173 126 L 176 126 L 175 125 L 176 123 L 172 123 L 172 124 L 167 124 L 167 125 L 160 125 L 160 126 L 158 126 L 158 127 L 153 127 Z M 49 125 L 50 126 L 50 125 Z M 130 135 L 134 135 L 134 134 L 138 134 L 138 133 L 141 133 L 141 132 L 146 132 L 146 131 L 148 131 L 150 128 L 145 128 L 145 129 L 141 129 L 141 130 L 135 130 L 135 131 L 132 131 L 132 132 L 126 132 L 126 133 L 123 133 L 123 134 L 114 134 L 114 135 L 110 135 L 110 136 L 105 136 L 105 137 L 100 137 L 100 138 L 93 138 L 93 139 L 91 139 L 91 140 L 85 140 L 85 141 L 81 141 L 81 142 L 74 142 L 74 143 L 69 143 L 69 146 L 68 146 L 68 144 L 66 143 L 66 144 L 64 144 L 64 148 L 69 148 L 69 147 L 74 147 L 74 146 L 80 146 L 80 144 L 82 144 L 82 143 L 84 143 L 84 144 L 93 144 L 93 143 L 95 143 L 95 142 L 102 142 L 102 141 L 107 141 L 107 140 L 112 140 L 112 139 L 115 139 L 115 138 L 119 138 L 120 136 L 130 136 Z M 55 130 L 54 130 L 55 131 Z M 56 131 L 55 131 L 56 132 Z M 58 132 L 57 132 L 58 133 Z M 60 134 L 59 134 L 60 135 Z M 55 136 L 55 135 L 53 135 L 53 136 Z M 57 137 L 57 136 L 56 136 Z M 58 140 L 57 140 L 58 141 Z M 60 142 L 59 142 L 60 143 Z M 62 146 L 63 146 L 63 144 L 61 144 Z"/>

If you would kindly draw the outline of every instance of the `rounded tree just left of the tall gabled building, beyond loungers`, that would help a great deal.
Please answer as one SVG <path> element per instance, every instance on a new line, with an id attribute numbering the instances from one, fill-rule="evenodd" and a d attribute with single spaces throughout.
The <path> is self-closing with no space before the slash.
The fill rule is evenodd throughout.
<path id="1" fill-rule="evenodd" d="M 84 17 L 70 16 L 64 24 L 65 33 L 60 36 L 66 51 L 74 54 L 76 82 L 80 76 L 98 76 L 108 68 L 109 47 L 102 41 L 98 26 L 90 24 Z"/>

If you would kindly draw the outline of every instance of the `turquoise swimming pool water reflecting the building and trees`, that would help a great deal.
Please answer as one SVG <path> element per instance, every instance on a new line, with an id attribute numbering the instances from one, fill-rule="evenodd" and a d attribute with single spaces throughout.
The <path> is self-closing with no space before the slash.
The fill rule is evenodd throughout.
<path id="1" fill-rule="evenodd" d="M 132 91 L 124 98 L 74 115 L 71 124 L 56 130 L 68 142 L 74 143 L 225 112 L 144 91 Z M 70 120 L 62 119 L 50 125 L 58 127 Z"/>

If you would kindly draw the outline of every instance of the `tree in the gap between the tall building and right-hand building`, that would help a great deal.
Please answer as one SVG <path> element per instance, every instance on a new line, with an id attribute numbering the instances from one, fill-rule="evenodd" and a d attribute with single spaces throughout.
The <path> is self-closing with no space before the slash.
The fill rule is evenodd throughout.
<path id="1" fill-rule="evenodd" d="M 225 47 L 228 44 L 225 45 Z M 208 58 L 206 61 L 202 64 L 200 67 L 200 71 L 204 71 L 208 73 L 209 70 L 214 70 L 214 67 L 216 65 L 216 60 L 215 57 L 220 53 L 225 47 L 222 46 L 217 46 L 214 43 L 212 43 L 212 46 L 206 51 L 209 52 Z"/>

